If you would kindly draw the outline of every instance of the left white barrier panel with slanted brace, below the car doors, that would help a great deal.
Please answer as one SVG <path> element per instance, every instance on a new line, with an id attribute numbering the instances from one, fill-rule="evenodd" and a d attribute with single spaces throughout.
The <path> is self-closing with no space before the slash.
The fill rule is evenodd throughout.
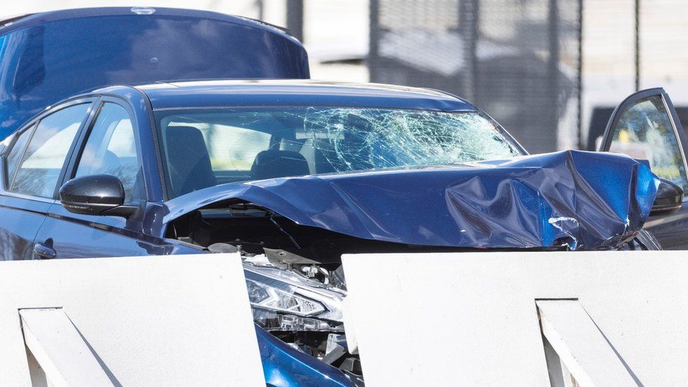
<path id="1" fill-rule="evenodd" d="M 238 254 L 0 262 L 0 278 L 0 386 L 265 386 Z"/>

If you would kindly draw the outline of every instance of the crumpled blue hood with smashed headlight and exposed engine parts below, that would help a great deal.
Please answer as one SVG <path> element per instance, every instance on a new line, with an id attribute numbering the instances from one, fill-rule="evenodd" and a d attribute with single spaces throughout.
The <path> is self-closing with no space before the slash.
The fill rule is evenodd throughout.
<path id="1" fill-rule="evenodd" d="M 259 337 L 319 360 L 330 381 L 361 384 L 344 337 L 342 254 L 648 247 L 658 183 L 626 156 L 576 151 L 275 178 L 171 200 L 166 238 L 240 252 Z M 284 354 L 263 349 L 269 378 Z"/>

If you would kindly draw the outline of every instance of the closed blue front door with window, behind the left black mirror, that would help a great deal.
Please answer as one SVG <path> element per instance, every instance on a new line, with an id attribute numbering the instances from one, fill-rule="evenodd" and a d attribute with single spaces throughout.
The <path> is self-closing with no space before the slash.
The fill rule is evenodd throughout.
<path id="1" fill-rule="evenodd" d="M 153 151 L 153 149 L 150 149 Z M 64 180 L 98 173 L 119 178 L 125 204 L 145 207 L 147 190 L 133 109 L 116 98 L 97 103 L 94 119 L 78 142 Z M 36 240 L 56 258 L 166 254 L 168 246 L 144 231 L 143 219 L 74 214 L 56 201 Z"/>

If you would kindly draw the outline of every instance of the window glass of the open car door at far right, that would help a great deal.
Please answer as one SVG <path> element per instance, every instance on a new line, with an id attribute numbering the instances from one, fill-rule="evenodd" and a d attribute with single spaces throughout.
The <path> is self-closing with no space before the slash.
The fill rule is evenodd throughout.
<path id="1" fill-rule="evenodd" d="M 648 160 L 657 176 L 688 192 L 681 145 L 661 96 L 641 99 L 622 111 L 613 130 L 610 152 Z"/>

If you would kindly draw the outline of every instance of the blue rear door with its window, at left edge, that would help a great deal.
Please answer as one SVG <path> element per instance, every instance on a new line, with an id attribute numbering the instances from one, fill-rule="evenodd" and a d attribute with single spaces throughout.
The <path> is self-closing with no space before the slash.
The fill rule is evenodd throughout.
<path id="1" fill-rule="evenodd" d="M 0 259 L 34 257 L 36 233 L 91 105 L 84 99 L 58 106 L 13 135 L 1 163 Z"/>

